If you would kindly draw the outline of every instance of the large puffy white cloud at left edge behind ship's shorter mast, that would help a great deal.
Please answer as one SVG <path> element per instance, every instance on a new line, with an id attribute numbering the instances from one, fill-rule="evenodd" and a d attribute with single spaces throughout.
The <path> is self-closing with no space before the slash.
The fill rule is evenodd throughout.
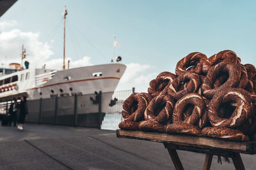
<path id="1" fill-rule="evenodd" d="M 0 34 L 1 60 L 4 64 L 19 62 L 21 57 L 22 45 L 26 48 L 26 59 L 31 67 L 41 67 L 45 60 L 49 59 L 54 53 L 47 43 L 39 41 L 39 34 L 35 32 L 22 32 L 19 29 L 4 31 Z M 3 58 L 2 58 L 3 59 Z"/>

